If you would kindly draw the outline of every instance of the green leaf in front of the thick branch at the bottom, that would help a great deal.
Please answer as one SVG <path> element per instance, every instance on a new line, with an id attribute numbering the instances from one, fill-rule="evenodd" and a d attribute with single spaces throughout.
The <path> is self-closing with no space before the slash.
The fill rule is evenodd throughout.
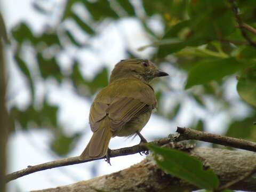
<path id="1" fill-rule="evenodd" d="M 195 157 L 176 149 L 154 145 L 148 145 L 148 148 L 154 152 L 157 165 L 167 173 L 198 188 L 213 190 L 219 186 L 217 175 L 210 169 L 204 170 L 202 162 Z"/>

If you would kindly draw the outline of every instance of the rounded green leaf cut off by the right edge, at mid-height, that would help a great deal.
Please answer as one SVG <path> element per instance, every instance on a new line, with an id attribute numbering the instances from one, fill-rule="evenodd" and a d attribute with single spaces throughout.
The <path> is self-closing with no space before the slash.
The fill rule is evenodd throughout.
<path id="1" fill-rule="evenodd" d="M 243 100 L 256 107 L 256 79 L 239 78 L 236 89 Z"/>

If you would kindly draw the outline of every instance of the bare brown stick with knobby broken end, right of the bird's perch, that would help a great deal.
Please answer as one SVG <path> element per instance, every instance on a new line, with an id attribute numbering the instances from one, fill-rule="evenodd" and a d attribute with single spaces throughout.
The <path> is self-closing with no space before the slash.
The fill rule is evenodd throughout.
<path id="1" fill-rule="evenodd" d="M 177 132 L 180 133 L 181 136 L 183 137 L 182 140 L 184 140 L 184 138 L 194 139 L 256 152 L 256 143 L 251 141 L 221 136 L 218 134 L 206 133 L 203 131 L 196 131 L 193 129 L 182 127 L 177 127 Z"/>

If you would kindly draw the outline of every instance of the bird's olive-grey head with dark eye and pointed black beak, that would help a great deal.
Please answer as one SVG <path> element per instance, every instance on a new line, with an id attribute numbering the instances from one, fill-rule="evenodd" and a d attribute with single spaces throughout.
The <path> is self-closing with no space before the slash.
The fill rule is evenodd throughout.
<path id="1" fill-rule="evenodd" d="M 168 74 L 159 71 L 155 64 L 144 59 L 127 59 L 118 62 L 110 76 L 110 83 L 122 78 L 137 78 L 149 83 L 155 77 L 163 77 Z"/>

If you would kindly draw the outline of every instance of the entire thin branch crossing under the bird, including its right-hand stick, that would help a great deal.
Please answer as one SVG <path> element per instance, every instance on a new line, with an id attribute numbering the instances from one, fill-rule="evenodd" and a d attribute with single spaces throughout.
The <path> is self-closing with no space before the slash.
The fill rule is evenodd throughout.
<path id="1" fill-rule="evenodd" d="M 162 145 L 165 145 L 165 144 L 173 142 L 173 141 L 178 142 L 178 141 L 194 139 L 194 140 L 199 140 L 199 141 L 216 143 L 216 144 L 223 145 L 223 146 L 229 146 L 229 147 L 234 147 L 234 148 L 239 148 L 239 149 L 256 151 L 256 143 L 246 141 L 243 139 L 224 137 L 224 136 L 217 135 L 217 134 L 211 134 L 211 133 L 196 131 L 196 130 L 189 129 L 189 128 L 181 128 L 181 127 L 177 127 L 177 132 L 179 134 L 170 134 L 169 137 L 155 140 L 150 143 L 152 143 L 154 145 L 162 146 Z M 111 150 L 110 157 L 131 155 L 131 154 L 136 154 L 136 153 L 139 153 L 139 152 L 145 151 L 145 150 L 147 150 L 145 144 L 141 143 L 139 145 L 135 145 L 132 147 L 125 147 L 125 148 L 121 148 L 121 149 Z M 102 159 L 102 158 L 99 158 L 99 159 Z M 26 169 L 16 171 L 16 172 L 6 175 L 6 182 L 9 182 L 11 180 L 14 180 L 14 179 L 23 177 L 25 175 L 38 172 L 38 171 L 53 169 L 55 167 L 60 167 L 60 166 L 85 163 L 85 162 L 94 161 L 94 160 L 96 160 L 96 159 L 80 161 L 78 159 L 78 156 L 76 156 L 76 157 L 63 158 L 63 159 L 59 159 L 57 161 L 47 162 L 47 163 L 43 163 L 43 164 L 39 164 L 39 165 L 35 165 L 35 166 L 28 166 Z"/>

